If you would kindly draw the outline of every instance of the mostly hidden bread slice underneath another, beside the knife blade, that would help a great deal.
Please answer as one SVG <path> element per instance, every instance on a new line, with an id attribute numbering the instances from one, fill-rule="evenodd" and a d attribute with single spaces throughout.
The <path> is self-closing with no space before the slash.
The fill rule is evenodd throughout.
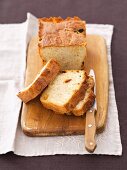
<path id="1" fill-rule="evenodd" d="M 95 94 L 93 92 L 93 88 L 94 88 L 93 78 L 90 77 L 87 83 L 88 83 L 88 88 L 86 90 L 84 99 L 81 100 L 72 111 L 72 113 L 75 116 L 81 116 L 84 113 L 86 113 L 92 107 L 94 103 Z"/>

